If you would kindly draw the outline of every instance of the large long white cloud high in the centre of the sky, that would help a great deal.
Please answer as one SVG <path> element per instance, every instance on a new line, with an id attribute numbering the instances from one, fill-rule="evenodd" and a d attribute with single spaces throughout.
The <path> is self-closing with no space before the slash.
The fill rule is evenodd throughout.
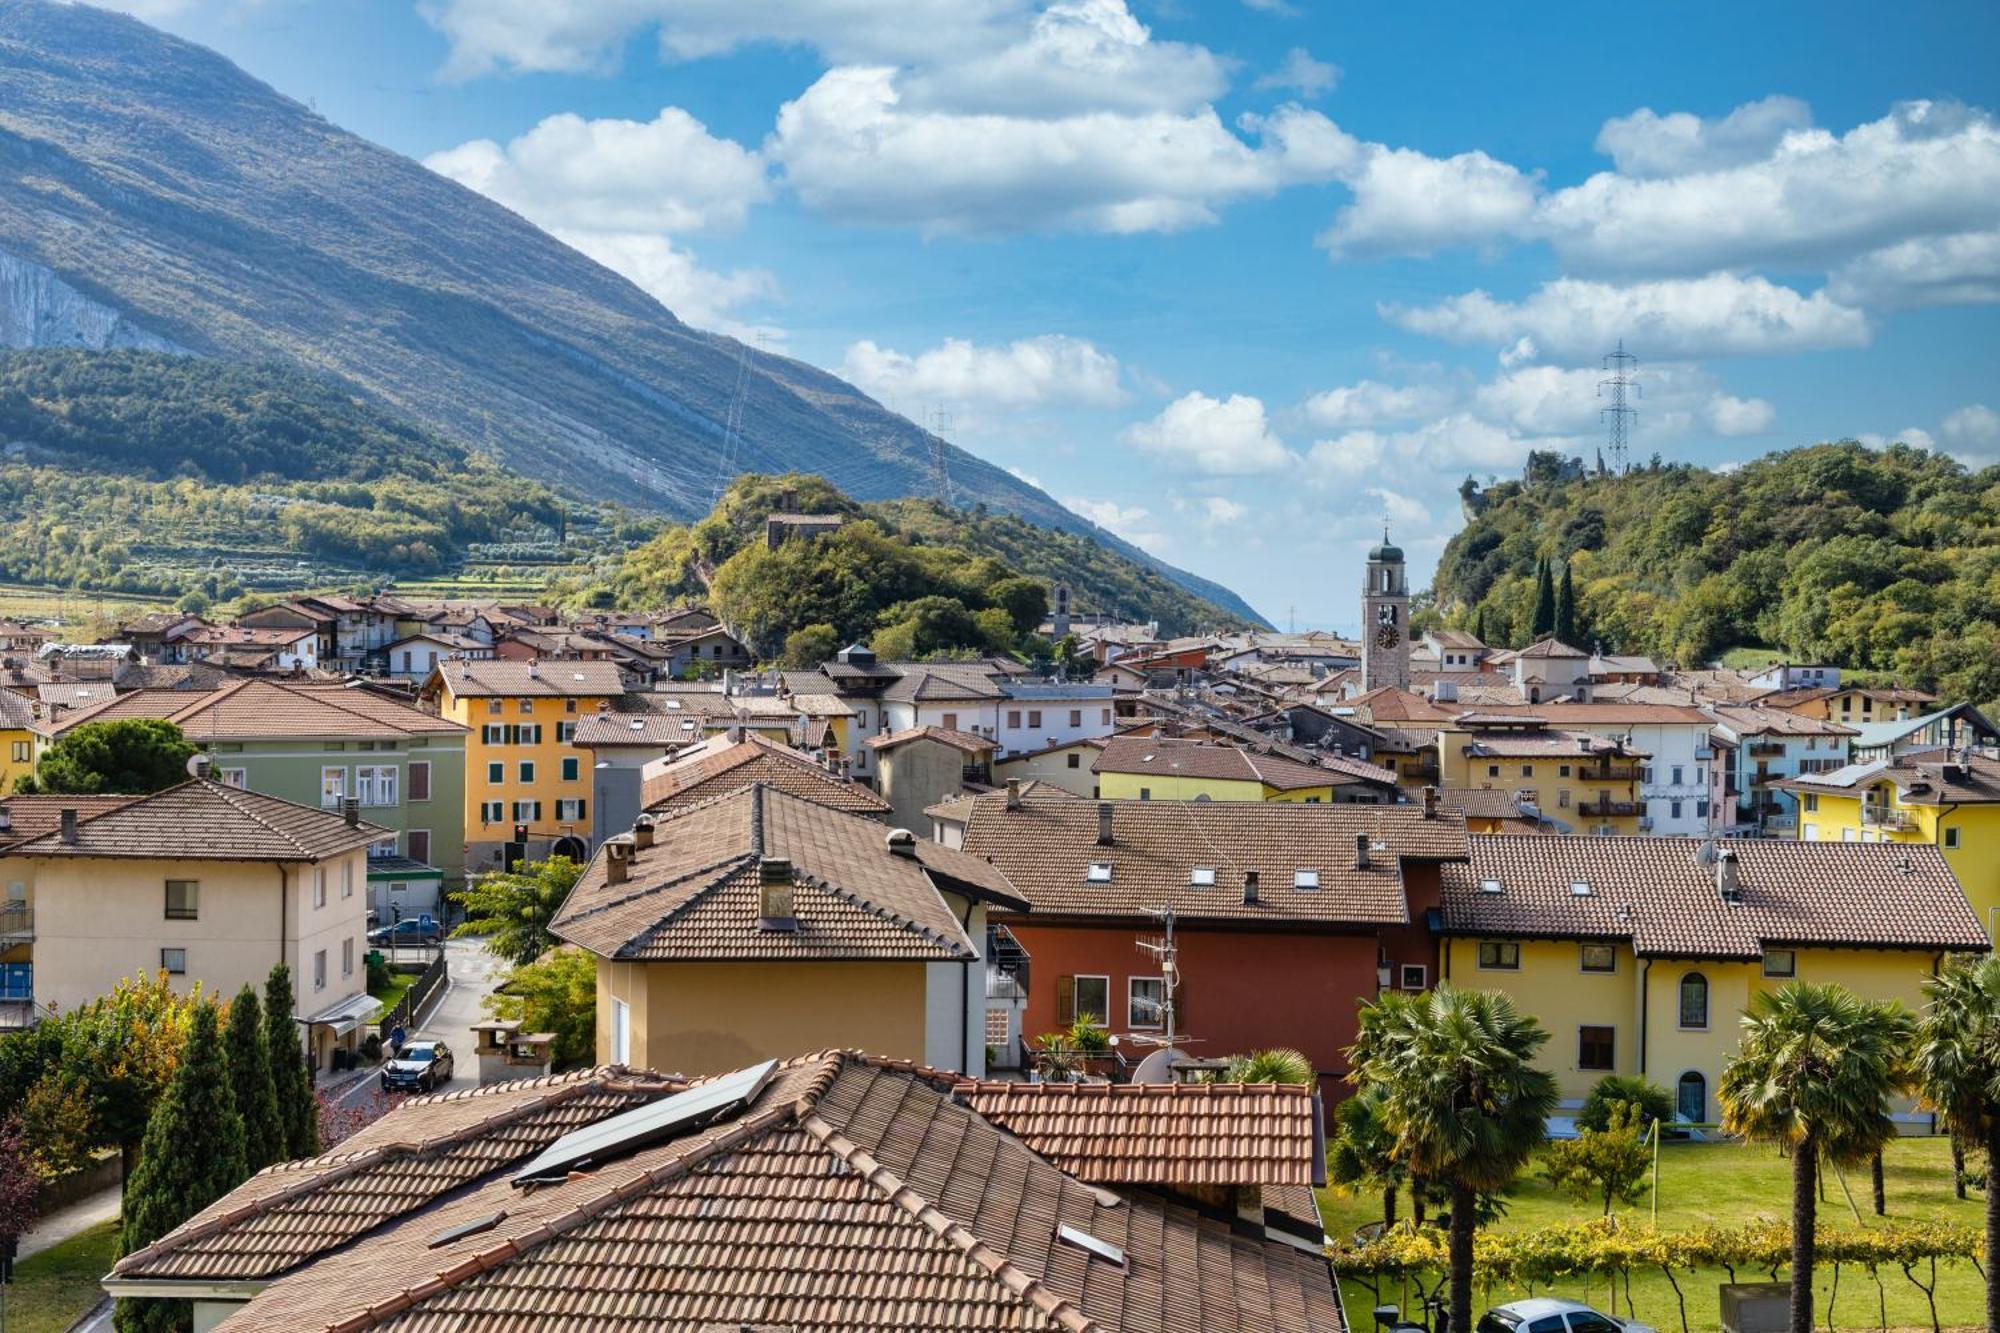
<path id="1" fill-rule="evenodd" d="M 812 208 L 932 232 L 1176 230 L 1242 196 L 1326 178 L 1350 142 L 1318 112 L 1250 122 L 1212 108 L 1050 120 L 914 110 L 890 68 L 836 68 L 786 102 L 766 154 Z"/>

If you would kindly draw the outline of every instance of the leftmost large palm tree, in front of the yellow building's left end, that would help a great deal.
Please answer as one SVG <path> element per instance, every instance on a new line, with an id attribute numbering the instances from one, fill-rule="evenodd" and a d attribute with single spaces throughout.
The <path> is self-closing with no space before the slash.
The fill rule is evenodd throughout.
<path id="1" fill-rule="evenodd" d="M 1348 1053 L 1354 1081 L 1380 1085 L 1404 1169 L 1452 1201 L 1452 1327 L 1472 1327 L 1472 1235 L 1480 1195 L 1504 1189 L 1548 1139 L 1556 1081 L 1530 1061 L 1542 1025 L 1498 991 L 1442 985 L 1364 1003 Z"/>

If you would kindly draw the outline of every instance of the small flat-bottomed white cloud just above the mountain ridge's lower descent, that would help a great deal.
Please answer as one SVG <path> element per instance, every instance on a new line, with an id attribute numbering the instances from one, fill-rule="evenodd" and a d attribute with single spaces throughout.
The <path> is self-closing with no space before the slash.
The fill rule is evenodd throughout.
<path id="1" fill-rule="evenodd" d="M 946 338 L 910 356 L 856 342 L 840 374 L 876 398 L 976 406 L 1118 406 L 1126 400 L 1118 358 L 1084 338 L 1042 334 L 1006 346 Z"/>

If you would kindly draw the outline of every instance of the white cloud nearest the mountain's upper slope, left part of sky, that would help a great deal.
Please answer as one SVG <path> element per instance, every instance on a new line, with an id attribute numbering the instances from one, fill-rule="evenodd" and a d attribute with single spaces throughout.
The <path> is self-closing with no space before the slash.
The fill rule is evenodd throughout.
<path id="1" fill-rule="evenodd" d="M 758 154 L 678 106 L 652 120 L 550 116 L 506 148 L 476 138 L 424 166 L 546 228 L 730 228 L 770 196 Z"/>

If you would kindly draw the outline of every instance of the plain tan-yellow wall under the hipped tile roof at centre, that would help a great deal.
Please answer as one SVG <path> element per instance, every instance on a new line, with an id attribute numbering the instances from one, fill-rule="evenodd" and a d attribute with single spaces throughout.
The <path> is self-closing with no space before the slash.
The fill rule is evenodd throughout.
<path id="1" fill-rule="evenodd" d="M 632 1059 L 724 1073 L 828 1047 L 924 1059 L 922 963 L 614 963 L 598 959 L 598 1061 L 612 1001 L 632 1007 Z"/>

